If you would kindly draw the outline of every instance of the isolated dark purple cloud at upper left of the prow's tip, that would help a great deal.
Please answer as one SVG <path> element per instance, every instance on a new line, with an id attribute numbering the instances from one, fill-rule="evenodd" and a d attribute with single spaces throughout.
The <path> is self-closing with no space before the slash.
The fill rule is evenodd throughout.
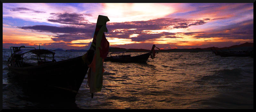
<path id="1" fill-rule="evenodd" d="M 51 13 L 52 14 L 52 13 Z M 54 13 L 53 17 L 47 19 L 50 22 L 61 24 L 73 24 L 73 25 L 87 25 L 88 20 L 83 17 L 83 14 L 77 13 Z"/>

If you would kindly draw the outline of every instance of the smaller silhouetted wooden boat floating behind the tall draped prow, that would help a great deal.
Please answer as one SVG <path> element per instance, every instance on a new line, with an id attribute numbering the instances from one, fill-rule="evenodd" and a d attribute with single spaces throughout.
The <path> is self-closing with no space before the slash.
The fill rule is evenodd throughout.
<path id="1" fill-rule="evenodd" d="M 106 59 L 104 59 L 104 61 L 111 61 L 111 62 L 121 62 L 121 63 L 145 63 L 150 55 L 154 55 L 154 48 L 156 46 L 153 45 L 152 49 L 149 53 L 145 53 L 145 54 L 141 54 L 138 56 L 131 56 L 131 54 L 126 54 L 124 55 L 124 53 L 127 52 L 113 52 L 113 53 L 109 53 L 110 56 L 108 56 Z M 156 47 L 157 48 L 157 47 Z M 117 54 L 116 56 L 112 56 L 112 54 Z M 119 55 L 121 54 L 121 55 Z"/>

